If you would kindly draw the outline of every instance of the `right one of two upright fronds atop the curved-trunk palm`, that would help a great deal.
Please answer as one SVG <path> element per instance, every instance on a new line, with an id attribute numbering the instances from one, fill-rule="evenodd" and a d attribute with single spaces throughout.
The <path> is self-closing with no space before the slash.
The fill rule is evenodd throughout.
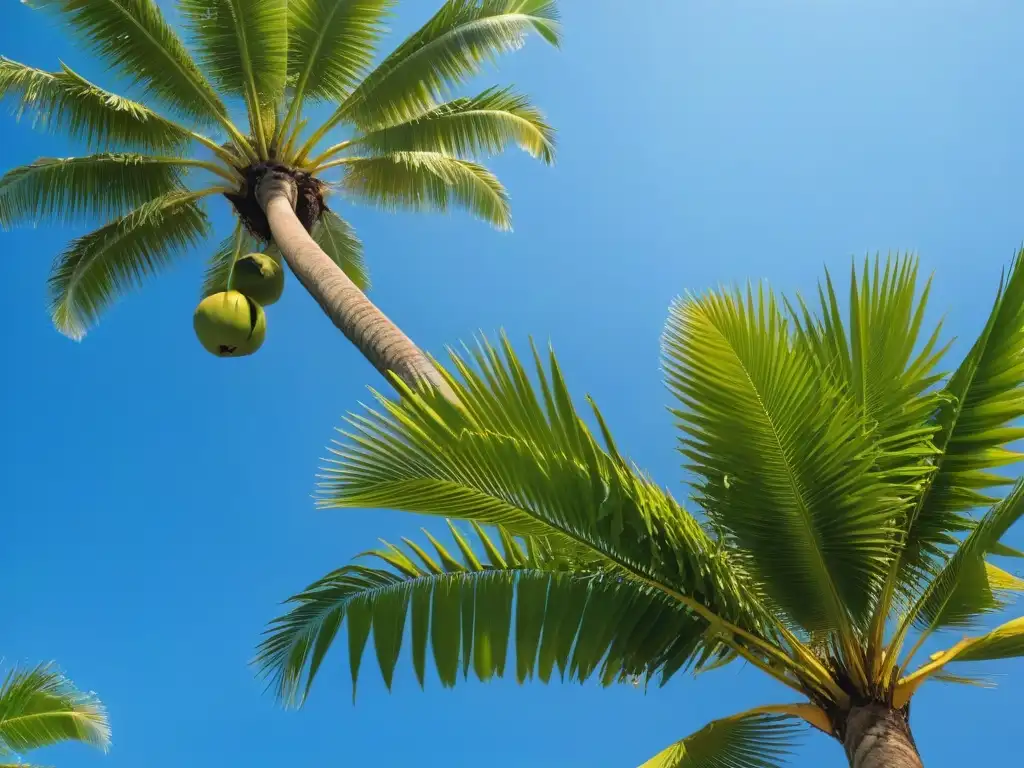
<path id="1" fill-rule="evenodd" d="M 290 0 L 288 75 L 293 98 L 340 100 L 370 69 L 394 0 Z"/>

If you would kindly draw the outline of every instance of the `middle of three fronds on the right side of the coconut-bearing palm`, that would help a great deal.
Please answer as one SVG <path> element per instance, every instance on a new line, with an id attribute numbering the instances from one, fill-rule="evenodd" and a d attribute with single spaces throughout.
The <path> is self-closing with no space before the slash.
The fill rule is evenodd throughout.
<path id="1" fill-rule="evenodd" d="M 488 88 L 472 98 L 449 101 L 352 141 L 359 150 L 382 155 L 425 151 L 463 158 L 500 153 L 509 143 L 545 163 L 554 162 L 554 131 L 540 110 L 511 88 Z"/>

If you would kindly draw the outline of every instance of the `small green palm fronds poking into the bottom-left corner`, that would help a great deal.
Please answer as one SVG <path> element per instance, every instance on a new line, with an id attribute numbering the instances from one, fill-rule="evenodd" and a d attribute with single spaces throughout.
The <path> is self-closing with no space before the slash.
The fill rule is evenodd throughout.
<path id="1" fill-rule="evenodd" d="M 91 693 L 83 693 L 50 665 L 14 669 L 0 685 L 0 768 L 30 768 L 16 759 L 61 741 L 106 750 L 106 713 Z"/>

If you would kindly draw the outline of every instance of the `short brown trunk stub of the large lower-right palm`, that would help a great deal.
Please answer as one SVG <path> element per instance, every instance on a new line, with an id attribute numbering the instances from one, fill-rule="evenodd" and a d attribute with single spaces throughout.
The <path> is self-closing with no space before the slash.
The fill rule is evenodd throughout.
<path id="1" fill-rule="evenodd" d="M 905 712 L 885 705 L 854 707 L 843 746 L 851 768 L 923 768 Z"/>

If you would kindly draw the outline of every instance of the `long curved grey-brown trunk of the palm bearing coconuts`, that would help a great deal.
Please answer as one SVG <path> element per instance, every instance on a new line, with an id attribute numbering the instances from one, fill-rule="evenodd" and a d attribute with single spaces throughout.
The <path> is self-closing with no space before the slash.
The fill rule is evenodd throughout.
<path id="1" fill-rule="evenodd" d="M 324 313 L 380 373 L 394 372 L 411 387 L 430 384 L 455 395 L 430 359 L 321 250 L 295 215 L 295 182 L 268 171 L 256 190 L 281 253 Z M 390 383 L 390 379 L 388 379 Z"/>

